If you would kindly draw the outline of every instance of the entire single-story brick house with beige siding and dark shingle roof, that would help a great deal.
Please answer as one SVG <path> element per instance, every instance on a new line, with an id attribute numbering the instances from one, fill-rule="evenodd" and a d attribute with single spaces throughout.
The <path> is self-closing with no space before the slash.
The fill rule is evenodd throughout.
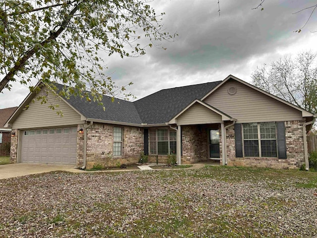
<path id="1" fill-rule="evenodd" d="M 178 164 L 209 159 L 224 165 L 298 168 L 308 154 L 306 133 L 317 115 L 229 75 L 223 81 L 160 90 L 135 102 L 105 96 L 97 103 L 56 98 L 63 117 L 31 103 L 29 94 L 6 126 L 12 163 L 91 168 L 135 163 L 140 154 Z M 29 105 L 28 110 L 23 110 Z"/>

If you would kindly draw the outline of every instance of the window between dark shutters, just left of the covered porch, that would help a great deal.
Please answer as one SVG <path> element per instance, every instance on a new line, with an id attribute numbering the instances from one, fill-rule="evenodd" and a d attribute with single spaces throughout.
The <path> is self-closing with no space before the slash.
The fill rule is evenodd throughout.
<path id="1" fill-rule="evenodd" d="M 176 131 L 168 128 L 150 129 L 150 154 L 176 154 Z"/>

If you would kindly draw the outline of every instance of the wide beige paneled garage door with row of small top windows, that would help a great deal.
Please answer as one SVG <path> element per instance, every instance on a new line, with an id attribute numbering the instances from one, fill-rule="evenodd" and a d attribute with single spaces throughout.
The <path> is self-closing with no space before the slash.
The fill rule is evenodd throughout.
<path id="1" fill-rule="evenodd" d="M 77 128 L 23 130 L 22 163 L 76 165 Z"/>

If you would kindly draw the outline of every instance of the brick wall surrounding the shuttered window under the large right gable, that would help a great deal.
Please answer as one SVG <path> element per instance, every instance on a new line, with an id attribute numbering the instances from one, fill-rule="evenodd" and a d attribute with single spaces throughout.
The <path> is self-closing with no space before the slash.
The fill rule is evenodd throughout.
<path id="1" fill-rule="evenodd" d="M 227 163 L 229 166 L 264 167 L 274 169 L 297 169 L 305 163 L 304 137 L 302 126 L 304 120 L 285 121 L 287 159 L 235 157 L 234 126 L 227 128 Z"/>

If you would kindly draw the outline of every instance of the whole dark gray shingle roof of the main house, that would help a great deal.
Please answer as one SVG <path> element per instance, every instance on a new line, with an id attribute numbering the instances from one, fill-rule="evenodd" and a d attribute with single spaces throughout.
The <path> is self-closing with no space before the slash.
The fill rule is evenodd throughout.
<path id="1" fill-rule="evenodd" d="M 135 102 L 104 96 L 106 111 L 95 102 L 71 97 L 66 100 L 72 107 L 89 119 L 101 119 L 127 123 L 165 123 L 182 111 L 195 99 L 201 99 L 221 81 L 202 83 L 177 88 L 163 89 Z M 58 85 L 62 89 L 62 85 Z"/>

